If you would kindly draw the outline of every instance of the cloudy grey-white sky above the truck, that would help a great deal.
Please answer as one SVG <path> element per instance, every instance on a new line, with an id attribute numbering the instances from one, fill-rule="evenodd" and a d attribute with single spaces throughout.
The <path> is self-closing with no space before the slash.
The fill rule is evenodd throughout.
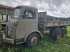
<path id="1" fill-rule="evenodd" d="M 28 5 L 56 17 L 70 17 L 70 0 L 0 0 L 0 4 L 8 6 Z"/>

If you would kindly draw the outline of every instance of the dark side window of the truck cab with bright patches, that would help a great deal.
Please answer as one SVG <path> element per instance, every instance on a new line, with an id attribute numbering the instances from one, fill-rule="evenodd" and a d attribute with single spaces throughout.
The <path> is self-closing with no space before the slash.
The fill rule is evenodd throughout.
<path id="1" fill-rule="evenodd" d="M 22 17 L 23 19 L 35 19 L 36 13 L 32 11 L 24 11 Z"/>

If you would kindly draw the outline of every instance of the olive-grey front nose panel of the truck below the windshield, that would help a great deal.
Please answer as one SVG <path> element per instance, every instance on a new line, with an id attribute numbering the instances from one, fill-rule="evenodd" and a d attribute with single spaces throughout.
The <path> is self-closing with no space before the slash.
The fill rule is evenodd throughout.
<path id="1" fill-rule="evenodd" d="M 15 34 L 16 34 L 16 27 L 15 24 L 18 22 L 17 19 L 9 19 L 9 21 L 7 22 L 7 26 L 8 26 L 8 35 L 10 38 L 15 38 Z"/>

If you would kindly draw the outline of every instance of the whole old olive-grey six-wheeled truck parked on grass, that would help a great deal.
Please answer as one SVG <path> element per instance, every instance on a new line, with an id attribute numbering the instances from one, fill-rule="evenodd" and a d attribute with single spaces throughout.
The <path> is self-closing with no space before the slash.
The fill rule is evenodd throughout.
<path id="1" fill-rule="evenodd" d="M 49 34 L 53 39 L 65 37 L 68 25 L 70 25 L 68 18 L 66 20 L 55 18 L 47 15 L 46 12 L 38 12 L 31 6 L 15 7 L 12 18 L 1 23 L 4 42 L 25 43 L 28 47 L 37 45 L 43 34 Z"/>

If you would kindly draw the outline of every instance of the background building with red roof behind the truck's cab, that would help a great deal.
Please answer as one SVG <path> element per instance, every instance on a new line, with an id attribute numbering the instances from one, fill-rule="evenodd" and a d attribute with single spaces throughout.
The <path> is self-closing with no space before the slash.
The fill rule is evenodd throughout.
<path id="1" fill-rule="evenodd" d="M 6 18 L 11 18 L 14 7 L 0 4 L 0 21 L 6 21 Z"/>

